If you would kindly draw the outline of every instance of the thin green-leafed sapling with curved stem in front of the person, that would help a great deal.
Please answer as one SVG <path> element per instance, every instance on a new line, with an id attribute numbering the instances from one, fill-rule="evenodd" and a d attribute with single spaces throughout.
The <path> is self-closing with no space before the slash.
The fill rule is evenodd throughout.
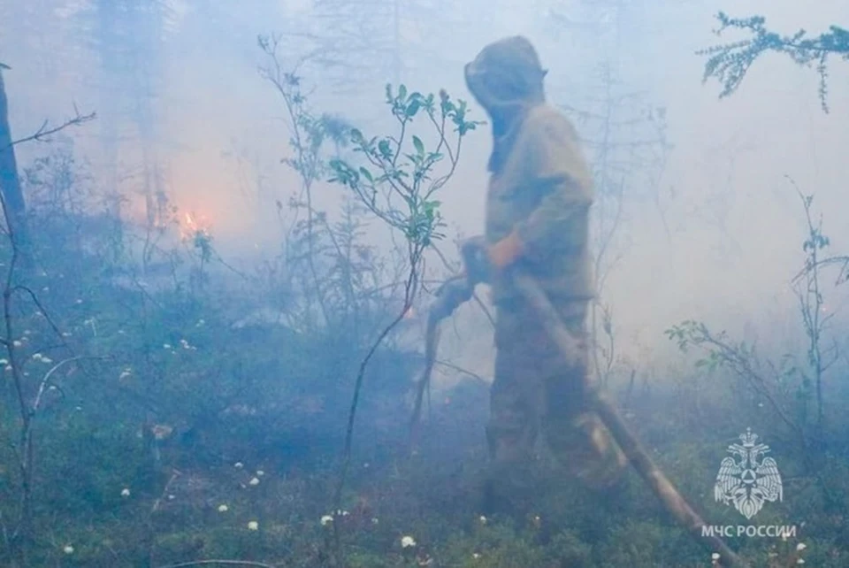
<path id="1" fill-rule="evenodd" d="M 409 93 L 403 85 L 394 92 L 392 86 L 387 85 L 386 104 L 397 123 L 398 133 L 367 137 L 360 130 L 351 129 L 350 142 L 352 149 L 362 157 L 360 164 L 352 165 L 342 159 L 330 162 L 333 171 L 331 181 L 348 188 L 356 200 L 390 230 L 404 235 L 409 263 L 402 309 L 371 345 L 356 376 L 333 510 L 341 509 L 342 490 L 351 460 L 354 420 L 366 366 L 412 306 L 423 280 L 424 252 L 445 237 L 442 231 L 446 224 L 437 193 L 456 171 L 463 137 L 482 124 L 467 119 L 469 110 L 466 103 L 452 101 L 445 90 L 440 91 L 437 99 L 432 94 Z M 435 134 L 432 150 L 419 135 L 411 133 L 414 120 L 423 116 Z M 333 523 L 337 555 L 340 554 L 338 526 L 339 523 Z"/>

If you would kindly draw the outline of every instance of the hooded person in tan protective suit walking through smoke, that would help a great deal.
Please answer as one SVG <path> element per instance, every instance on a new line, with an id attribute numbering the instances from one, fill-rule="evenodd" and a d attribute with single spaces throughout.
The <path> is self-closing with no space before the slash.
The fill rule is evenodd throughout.
<path id="1" fill-rule="evenodd" d="M 470 92 L 493 128 L 483 245 L 496 309 L 486 426 L 492 467 L 484 506 L 490 512 L 516 512 L 531 497 L 529 467 L 540 430 L 558 461 L 591 487 L 608 487 L 626 464 L 600 419 L 585 411 L 593 181 L 575 128 L 546 103 L 546 73 L 521 36 L 486 46 L 465 66 Z M 536 280 L 579 339 L 577 361 L 562 355 L 511 286 L 509 274 L 516 270 Z"/>

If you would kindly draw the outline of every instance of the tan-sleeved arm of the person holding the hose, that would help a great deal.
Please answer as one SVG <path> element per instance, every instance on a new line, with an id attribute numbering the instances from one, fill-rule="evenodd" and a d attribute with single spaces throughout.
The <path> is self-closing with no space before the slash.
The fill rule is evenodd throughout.
<path id="1" fill-rule="evenodd" d="M 507 237 L 487 249 L 496 269 L 513 264 L 528 250 L 566 238 L 570 226 L 593 204 L 590 174 L 568 125 L 539 125 L 522 142 L 527 187 L 542 197 Z"/>

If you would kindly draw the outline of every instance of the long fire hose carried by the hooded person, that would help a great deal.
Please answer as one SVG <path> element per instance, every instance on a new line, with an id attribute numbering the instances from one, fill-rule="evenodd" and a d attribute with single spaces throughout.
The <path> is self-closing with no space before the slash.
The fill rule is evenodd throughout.
<path id="1" fill-rule="evenodd" d="M 463 303 L 470 300 L 474 289 L 479 283 L 489 281 L 490 268 L 483 254 L 482 241 L 472 239 L 466 242 L 461 249 L 465 272 L 463 275 L 447 280 L 436 293 L 436 301 L 432 303 L 427 318 L 427 329 L 425 334 L 424 349 L 424 371 L 416 383 L 416 399 L 413 409 L 413 418 L 410 424 L 410 434 L 413 443 L 417 441 L 419 434 L 419 423 L 421 418 L 424 392 L 430 384 L 433 366 L 436 362 L 436 354 L 439 345 L 440 322 L 447 319 Z M 576 338 L 567 331 L 566 327 L 557 315 L 555 306 L 548 299 L 542 288 L 532 277 L 522 272 L 512 274 L 513 285 L 524 296 L 524 299 L 532 306 L 547 333 L 555 342 L 555 345 L 566 357 L 573 357 L 579 349 Z M 663 474 L 646 449 L 631 432 L 631 428 L 622 418 L 616 408 L 616 404 L 596 385 L 592 384 L 589 377 L 585 377 L 585 393 L 587 410 L 594 411 L 604 426 L 607 426 L 610 434 L 622 449 L 629 463 L 638 472 L 639 476 L 652 489 L 654 495 L 660 499 L 663 508 L 677 520 L 678 523 L 692 534 L 692 536 L 711 552 L 716 552 L 724 563 L 733 567 L 746 567 L 744 562 L 725 542 L 715 533 L 708 530 L 705 522 L 699 514 L 686 502 L 677 488 Z"/>

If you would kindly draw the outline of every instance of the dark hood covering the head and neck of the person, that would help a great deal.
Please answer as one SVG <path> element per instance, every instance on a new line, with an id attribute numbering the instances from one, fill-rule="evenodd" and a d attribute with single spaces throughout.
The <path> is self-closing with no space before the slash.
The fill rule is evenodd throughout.
<path id="1" fill-rule="evenodd" d="M 546 73 L 537 50 L 521 35 L 490 43 L 465 66 L 466 85 L 492 119 L 491 172 L 500 171 L 527 112 L 545 103 Z"/>

